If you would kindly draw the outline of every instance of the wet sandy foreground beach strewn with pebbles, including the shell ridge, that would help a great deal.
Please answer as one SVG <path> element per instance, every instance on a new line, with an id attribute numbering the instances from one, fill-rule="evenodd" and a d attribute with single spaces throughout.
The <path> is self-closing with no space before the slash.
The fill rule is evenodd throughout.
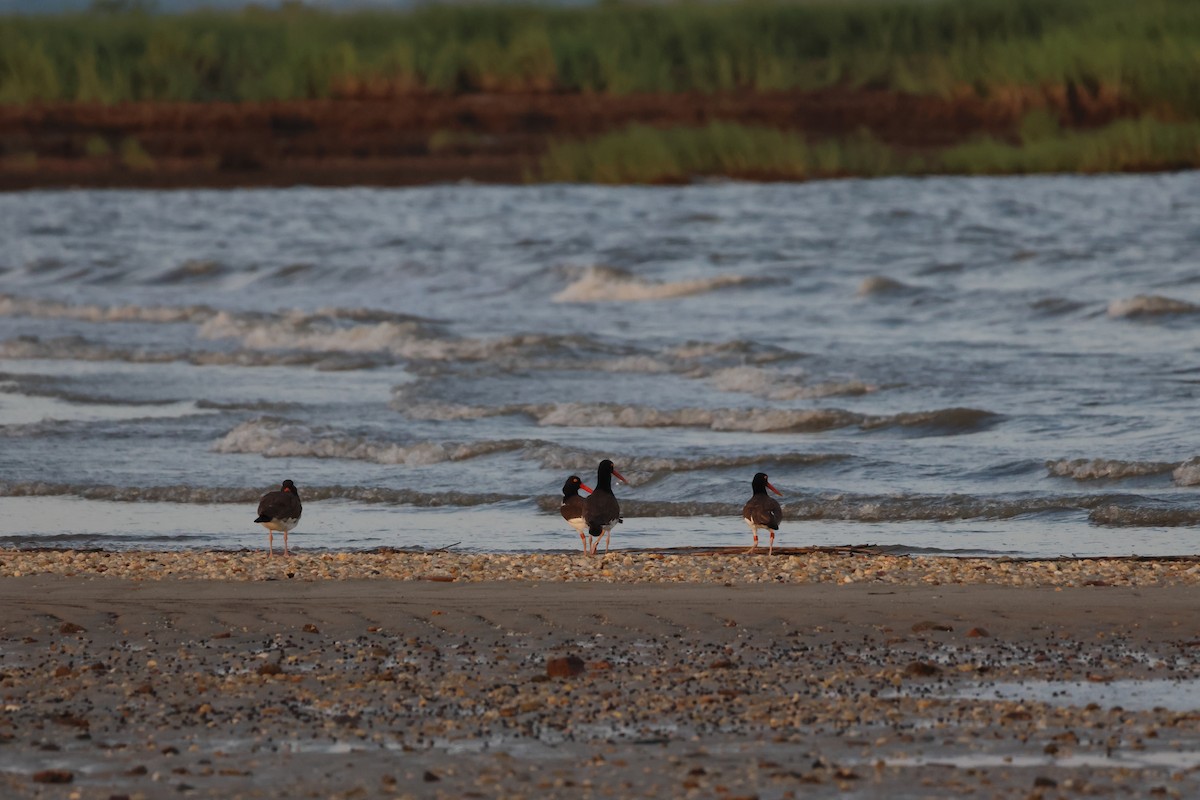
<path id="1" fill-rule="evenodd" d="M 0 576 L 8 798 L 1200 790 L 1189 559 L 10 551 Z"/>

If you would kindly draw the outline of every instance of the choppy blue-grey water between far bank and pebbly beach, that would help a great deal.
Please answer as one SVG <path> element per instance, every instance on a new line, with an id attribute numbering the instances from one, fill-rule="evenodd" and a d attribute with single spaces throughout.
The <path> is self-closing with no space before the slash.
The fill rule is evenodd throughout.
<path id="1" fill-rule="evenodd" d="M 1200 551 L 1200 174 L 0 196 L 0 545 Z M 763 541 L 766 543 L 766 541 Z"/>

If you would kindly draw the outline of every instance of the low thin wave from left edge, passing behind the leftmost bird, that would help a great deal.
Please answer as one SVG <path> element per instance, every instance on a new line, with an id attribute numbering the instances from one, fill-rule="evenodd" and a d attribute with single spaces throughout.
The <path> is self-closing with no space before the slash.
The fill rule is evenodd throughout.
<path id="1" fill-rule="evenodd" d="M 104 486 L 79 483 L 10 482 L 0 481 L 0 497 L 74 497 L 108 503 L 179 503 L 185 505 L 257 504 L 264 492 L 277 486 L 260 487 L 196 487 L 196 486 Z M 305 503 L 320 500 L 352 500 L 373 505 L 407 505 L 421 507 L 479 506 L 526 500 L 516 494 L 468 492 L 415 492 L 367 486 L 300 486 Z M 556 506 L 557 509 L 557 506 Z"/>

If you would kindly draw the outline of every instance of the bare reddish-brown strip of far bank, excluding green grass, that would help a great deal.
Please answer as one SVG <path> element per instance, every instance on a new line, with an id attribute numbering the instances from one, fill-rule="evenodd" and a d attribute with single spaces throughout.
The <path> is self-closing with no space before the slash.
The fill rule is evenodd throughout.
<path id="1" fill-rule="evenodd" d="M 929 151 L 1012 137 L 1048 108 L 1068 126 L 1135 113 L 1114 92 L 1022 90 L 980 98 L 823 90 L 744 95 L 408 95 L 258 104 L 0 108 L 0 190 L 48 186 L 398 186 L 520 182 L 551 139 L 640 122 L 743 125 Z"/>

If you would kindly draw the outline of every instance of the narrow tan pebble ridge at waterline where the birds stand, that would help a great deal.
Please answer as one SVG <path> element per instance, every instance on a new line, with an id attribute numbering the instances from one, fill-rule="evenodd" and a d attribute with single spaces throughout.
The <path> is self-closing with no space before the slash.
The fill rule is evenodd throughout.
<path id="1" fill-rule="evenodd" d="M 258 551 L 0 551 L 0 577 L 103 575 L 134 581 L 544 581 L 601 583 L 874 583 L 1010 587 L 1170 587 L 1200 584 L 1194 560 L 1046 559 L 890 555 L 814 551 L 742 558 L 728 553 L 299 553 Z M 937 628 L 932 628 L 937 630 Z"/>

